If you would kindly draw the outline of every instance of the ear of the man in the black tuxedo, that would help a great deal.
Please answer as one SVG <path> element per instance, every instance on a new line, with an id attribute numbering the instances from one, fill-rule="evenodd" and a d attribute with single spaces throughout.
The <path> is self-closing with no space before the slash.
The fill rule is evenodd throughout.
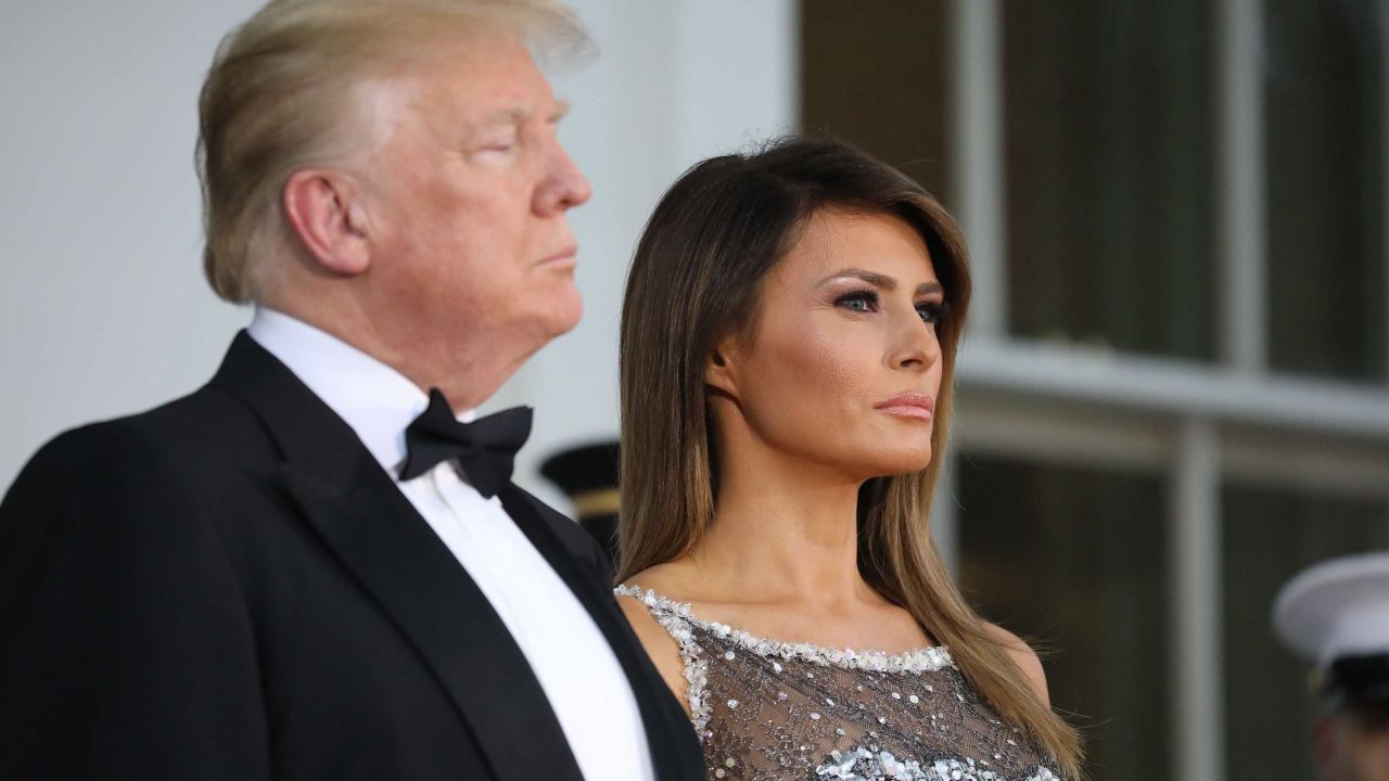
<path id="1" fill-rule="evenodd" d="M 285 182 L 283 207 L 300 245 L 325 271 L 344 277 L 367 271 L 368 217 L 347 175 L 321 168 L 294 171 Z"/>

